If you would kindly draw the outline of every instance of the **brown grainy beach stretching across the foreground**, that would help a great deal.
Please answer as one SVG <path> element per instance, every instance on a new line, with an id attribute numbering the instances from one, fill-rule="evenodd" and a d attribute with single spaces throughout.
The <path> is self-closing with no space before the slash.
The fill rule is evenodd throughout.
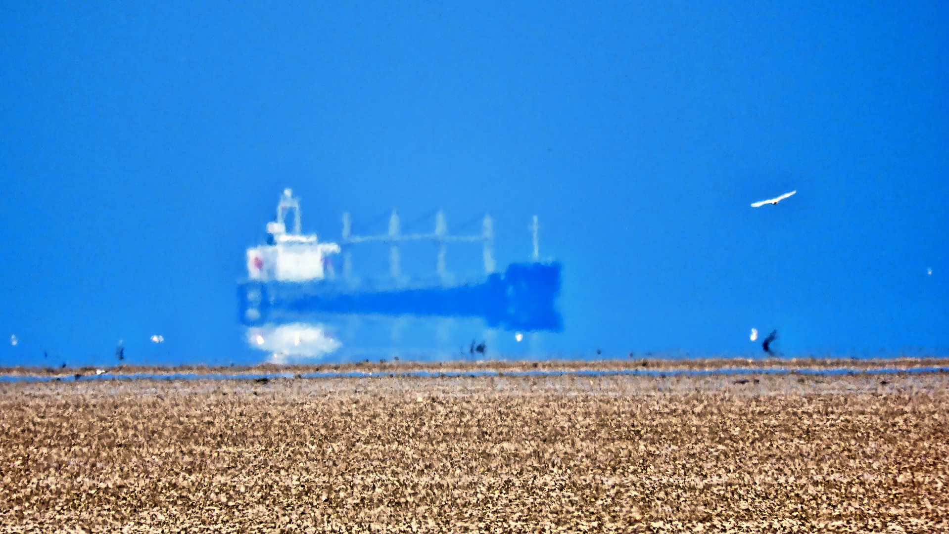
<path id="1" fill-rule="evenodd" d="M 949 530 L 949 374 L 749 365 L 0 383 L 0 531 Z"/>

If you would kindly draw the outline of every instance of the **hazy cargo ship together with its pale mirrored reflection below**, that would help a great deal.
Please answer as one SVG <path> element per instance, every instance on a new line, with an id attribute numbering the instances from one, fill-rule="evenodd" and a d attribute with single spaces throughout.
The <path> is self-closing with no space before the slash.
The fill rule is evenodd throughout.
<path id="1" fill-rule="evenodd" d="M 293 230 L 287 231 L 288 217 Z M 248 278 L 238 285 L 239 320 L 251 347 L 278 362 L 324 359 L 486 359 L 491 355 L 535 354 L 543 333 L 560 332 L 555 307 L 560 292 L 558 263 L 537 261 L 537 219 L 533 261 L 498 272 L 493 259 L 493 221 L 482 232 L 448 233 L 442 212 L 430 233 L 403 234 L 393 212 L 387 233 L 354 235 L 348 213 L 341 243 L 321 243 L 301 233 L 300 203 L 286 190 L 277 216 L 267 225 L 267 245 L 247 250 Z M 437 245 L 434 276 L 413 278 L 400 269 L 400 243 L 428 240 Z M 389 276 L 353 275 L 351 249 L 366 242 L 389 247 Z M 483 274 L 460 277 L 446 268 L 449 243 L 482 247 Z M 336 276 L 330 254 L 343 253 Z M 523 342 L 522 342 L 523 341 Z"/>

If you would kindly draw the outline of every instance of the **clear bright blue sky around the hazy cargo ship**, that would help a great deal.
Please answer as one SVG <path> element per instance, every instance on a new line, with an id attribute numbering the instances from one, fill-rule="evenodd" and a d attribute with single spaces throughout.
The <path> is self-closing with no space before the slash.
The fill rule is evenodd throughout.
<path id="1" fill-rule="evenodd" d="M 0 40 L 0 364 L 259 359 L 285 187 L 323 237 L 491 212 L 501 266 L 537 214 L 561 354 L 949 353 L 942 2 L 4 2 Z"/>

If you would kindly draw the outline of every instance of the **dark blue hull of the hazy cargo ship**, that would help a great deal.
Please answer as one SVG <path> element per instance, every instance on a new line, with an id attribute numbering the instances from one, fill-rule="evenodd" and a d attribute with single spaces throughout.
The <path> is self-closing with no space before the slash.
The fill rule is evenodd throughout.
<path id="1" fill-rule="evenodd" d="M 560 332 L 556 310 L 559 263 L 512 264 L 471 285 L 349 287 L 343 282 L 304 284 L 246 282 L 239 286 L 240 321 L 254 326 L 300 321 L 314 314 L 476 317 L 491 327 Z"/>

